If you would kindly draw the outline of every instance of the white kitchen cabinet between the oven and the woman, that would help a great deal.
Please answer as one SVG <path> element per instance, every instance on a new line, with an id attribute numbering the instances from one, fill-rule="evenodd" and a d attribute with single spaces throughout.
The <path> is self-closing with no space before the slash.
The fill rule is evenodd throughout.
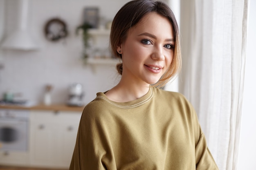
<path id="1" fill-rule="evenodd" d="M 30 165 L 69 168 L 81 113 L 31 111 Z"/>

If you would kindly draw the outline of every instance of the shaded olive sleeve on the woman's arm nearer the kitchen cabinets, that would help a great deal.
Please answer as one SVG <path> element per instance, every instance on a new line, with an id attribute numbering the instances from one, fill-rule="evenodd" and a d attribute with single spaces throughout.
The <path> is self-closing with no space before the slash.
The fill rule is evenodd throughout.
<path id="1" fill-rule="evenodd" d="M 88 112 L 87 106 L 79 124 L 70 170 L 115 170 L 104 124 L 99 123 L 97 115 Z"/>

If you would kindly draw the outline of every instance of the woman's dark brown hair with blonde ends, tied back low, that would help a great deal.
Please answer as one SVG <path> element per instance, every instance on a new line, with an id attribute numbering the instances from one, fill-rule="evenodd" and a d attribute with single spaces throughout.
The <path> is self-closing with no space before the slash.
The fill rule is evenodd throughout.
<path id="1" fill-rule="evenodd" d="M 180 36 L 179 28 L 173 11 L 167 4 L 161 1 L 154 0 L 132 0 L 126 3 L 115 15 L 112 22 L 110 33 L 110 45 L 112 53 L 115 57 L 122 58 L 122 55 L 117 52 L 117 46 L 126 40 L 129 29 L 135 26 L 141 18 L 146 14 L 155 12 L 159 15 L 166 17 L 173 26 L 174 34 L 174 51 L 173 59 L 170 67 L 154 85 L 158 87 L 164 86 L 180 71 L 181 68 L 181 49 L 180 49 Z M 122 74 L 122 63 L 117 64 L 117 71 Z"/>

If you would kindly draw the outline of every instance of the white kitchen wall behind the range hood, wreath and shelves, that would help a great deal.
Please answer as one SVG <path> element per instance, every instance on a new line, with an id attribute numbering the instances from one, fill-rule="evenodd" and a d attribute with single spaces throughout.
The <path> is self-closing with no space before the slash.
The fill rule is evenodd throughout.
<path id="1" fill-rule="evenodd" d="M 0 33 L 7 36 L 13 33 L 18 20 L 18 0 L 0 0 L 5 12 L 1 11 Z M 119 76 L 115 66 L 99 65 L 96 72 L 85 66 L 81 60 L 82 39 L 75 34 L 76 27 L 82 22 L 84 7 L 99 7 L 100 15 L 112 20 L 115 13 L 128 0 L 30 0 L 29 31 L 40 46 L 38 51 L 0 50 L 0 99 L 10 90 L 22 93 L 18 99 L 42 102 L 45 84 L 54 86 L 52 102 L 67 100 L 68 87 L 72 83 L 81 83 L 85 91 L 85 102 L 90 102 L 98 91 L 106 91 L 114 86 Z M 47 20 L 58 17 L 67 24 L 69 36 L 59 42 L 46 40 L 43 29 Z M 1 35 L 1 34 L 0 34 Z M 1 38 L 1 37 L 0 37 Z M 1 40 L 4 37 L 2 36 Z M 101 46 L 108 47 L 103 42 Z"/>

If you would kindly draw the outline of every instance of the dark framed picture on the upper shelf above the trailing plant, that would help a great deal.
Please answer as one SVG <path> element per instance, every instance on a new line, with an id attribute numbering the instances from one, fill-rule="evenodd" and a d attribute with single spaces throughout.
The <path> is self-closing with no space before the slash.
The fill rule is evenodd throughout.
<path id="1" fill-rule="evenodd" d="M 92 28 L 98 28 L 99 25 L 99 8 L 86 7 L 84 9 L 83 22 L 90 24 Z"/>

